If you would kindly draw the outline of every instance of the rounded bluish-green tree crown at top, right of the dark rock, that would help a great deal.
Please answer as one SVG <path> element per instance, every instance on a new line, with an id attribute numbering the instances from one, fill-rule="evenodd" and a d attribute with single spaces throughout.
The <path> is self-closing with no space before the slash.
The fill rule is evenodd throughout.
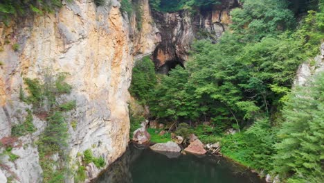
<path id="1" fill-rule="evenodd" d="M 246 0 L 243 8 L 233 10 L 231 15 L 231 28 L 244 35 L 244 41 L 259 41 L 268 35 L 278 35 L 294 28 L 296 22 L 285 0 Z"/>

